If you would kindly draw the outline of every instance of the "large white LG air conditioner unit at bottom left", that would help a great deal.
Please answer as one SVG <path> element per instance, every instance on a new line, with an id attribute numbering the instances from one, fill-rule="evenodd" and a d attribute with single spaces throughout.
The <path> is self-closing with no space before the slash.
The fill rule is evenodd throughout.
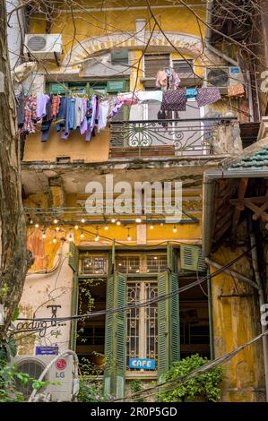
<path id="1" fill-rule="evenodd" d="M 19 356 L 12 359 L 12 364 L 16 365 L 18 372 L 29 374 L 31 378 L 39 379 L 47 365 L 56 356 Z M 43 381 L 60 382 L 60 384 L 48 384 L 38 393 L 51 395 L 53 401 L 71 401 L 73 392 L 73 357 L 60 357 L 48 370 Z M 17 384 L 24 399 L 29 400 L 32 388 L 30 382 L 26 386 Z"/>

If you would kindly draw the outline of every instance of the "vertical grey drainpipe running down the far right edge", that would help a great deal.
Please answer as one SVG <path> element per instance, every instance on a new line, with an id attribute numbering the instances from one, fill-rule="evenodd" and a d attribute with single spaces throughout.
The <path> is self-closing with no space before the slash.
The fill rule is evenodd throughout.
<path id="1" fill-rule="evenodd" d="M 255 272 L 255 281 L 258 286 L 259 291 L 259 305 L 260 305 L 260 314 L 262 305 L 265 304 L 265 296 L 264 296 L 264 287 L 262 283 L 262 279 L 260 277 L 259 267 L 258 267 L 258 256 L 257 256 L 257 249 L 254 247 L 256 244 L 255 234 L 252 229 L 252 222 L 250 219 L 250 216 L 248 217 L 248 227 L 251 230 L 250 232 L 250 245 L 252 247 L 251 249 L 251 255 L 252 255 L 252 265 L 253 270 Z M 267 331 L 267 327 L 262 324 L 262 333 L 265 333 Z M 266 389 L 266 402 L 268 402 L 268 343 L 267 343 L 267 336 L 265 335 L 263 337 L 263 349 L 264 349 L 264 376 L 265 376 L 265 389 Z"/>

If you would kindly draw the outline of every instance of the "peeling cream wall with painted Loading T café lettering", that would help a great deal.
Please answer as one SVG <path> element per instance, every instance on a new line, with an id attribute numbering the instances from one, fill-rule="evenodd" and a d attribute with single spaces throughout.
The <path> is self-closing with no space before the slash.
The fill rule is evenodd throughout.
<path id="1" fill-rule="evenodd" d="M 26 318 L 50 318 L 51 307 L 47 305 L 61 305 L 57 309 L 57 316 L 68 316 L 71 314 L 71 302 L 73 293 L 73 271 L 68 265 L 67 242 L 54 253 L 54 268 L 48 273 L 29 272 L 23 288 L 20 302 L 20 317 Z M 31 328 L 30 325 L 22 325 L 27 322 L 16 322 L 18 328 Z M 19 345 L 18 354 L 35 355 L 37 346 L 58 346 L 59 352 L 69 348 L 70 322 L 63 322 L 61 326 L 48 327 L 44 331 L 44 324 L 39 331 L 23 331 L 16 334 Z M 48 323 L 49 325 L 49 323 Z M 43 333 L 45 336 L 42 336 Z"/>

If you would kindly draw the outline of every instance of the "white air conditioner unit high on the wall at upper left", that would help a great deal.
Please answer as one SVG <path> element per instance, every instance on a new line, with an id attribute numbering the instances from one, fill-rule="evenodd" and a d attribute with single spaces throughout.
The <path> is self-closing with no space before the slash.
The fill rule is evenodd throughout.
<path id="1" fill-rule="evenodd" d="M 63 52 L 61 34 L 27 34 L 23 54 L 39 60 L 59 60 Z"/>

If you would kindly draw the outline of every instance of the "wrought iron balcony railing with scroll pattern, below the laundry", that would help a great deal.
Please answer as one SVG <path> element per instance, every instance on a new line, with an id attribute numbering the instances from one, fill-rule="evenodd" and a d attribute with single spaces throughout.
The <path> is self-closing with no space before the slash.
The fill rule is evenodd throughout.
<path id="1" fill-rule="evenodd" d="M 229 153 L 237 139 L 237 118 L 115 121 L 110 155 L 191 156 Z M 238 145 L 237 145 L 238 146 Z"/>

